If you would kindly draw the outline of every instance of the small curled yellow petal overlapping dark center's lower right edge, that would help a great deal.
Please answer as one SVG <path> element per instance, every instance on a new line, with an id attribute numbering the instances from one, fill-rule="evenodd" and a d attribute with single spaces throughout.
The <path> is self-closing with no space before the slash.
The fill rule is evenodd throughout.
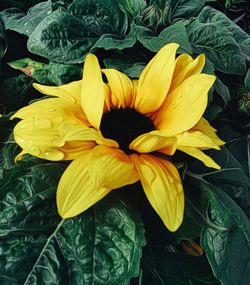
<path id="1" fill-rule="evenodd" d="M 140 153 L 160 151 L 165 154 L 173 155 L 176 150 L 177 139 L 175 137 L 166 137 L 160 131 L 152 131 L 140 135 L 134 139 L 129 148 Z"/>

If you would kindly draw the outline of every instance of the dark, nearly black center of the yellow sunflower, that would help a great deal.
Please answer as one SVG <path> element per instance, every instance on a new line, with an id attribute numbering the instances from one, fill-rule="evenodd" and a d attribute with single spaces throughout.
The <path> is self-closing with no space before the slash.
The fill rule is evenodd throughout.
<path id="1" fill-rule="evenodd" d="M 133 152 L 129 145 L 135 138 L 154 129 L 151 120 L 134 109 L 111 109 L 102 116 L 102 135 L 117 141 L 127 154 Z"/>

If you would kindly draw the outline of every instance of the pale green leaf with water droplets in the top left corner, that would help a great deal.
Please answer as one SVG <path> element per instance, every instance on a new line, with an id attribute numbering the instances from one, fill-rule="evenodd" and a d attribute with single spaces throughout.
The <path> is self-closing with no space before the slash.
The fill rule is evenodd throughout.
<path id="1" fill-rule="evenodd" d="M 52 13 L 49 1 L 41 2 L 31 7 L 27 15 L 18 8 L 9 8 L 0 13 L 5 29 L 29 36 L 36 26 Z"/>

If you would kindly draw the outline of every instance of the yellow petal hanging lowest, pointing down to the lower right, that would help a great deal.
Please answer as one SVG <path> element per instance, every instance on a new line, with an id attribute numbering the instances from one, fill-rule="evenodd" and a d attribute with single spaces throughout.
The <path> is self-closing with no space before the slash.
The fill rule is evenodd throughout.
<path id="1" fill-rule="evenodd" d="M 184 195 L 177 169 L 167 160 L 147 154 L 132 155 L 144 192 L 170 231 L 182 223 Z"/>

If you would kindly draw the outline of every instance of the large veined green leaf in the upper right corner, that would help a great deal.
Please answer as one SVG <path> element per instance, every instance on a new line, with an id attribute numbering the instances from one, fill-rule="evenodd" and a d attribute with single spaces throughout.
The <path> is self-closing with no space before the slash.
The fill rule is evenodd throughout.
<path id="1" fill-rule="evenodd" d="M 244 75 L 246 60 L 240 42 L 236 41 L 228 24 L 223 21 L 210 21 L 210 15 L 216 13 L 219 12 L 205 7 L 200 15 L 186 26 L 191 45 L 197 54 L 205 53 L 217 70 L 227 74 Z"/>

